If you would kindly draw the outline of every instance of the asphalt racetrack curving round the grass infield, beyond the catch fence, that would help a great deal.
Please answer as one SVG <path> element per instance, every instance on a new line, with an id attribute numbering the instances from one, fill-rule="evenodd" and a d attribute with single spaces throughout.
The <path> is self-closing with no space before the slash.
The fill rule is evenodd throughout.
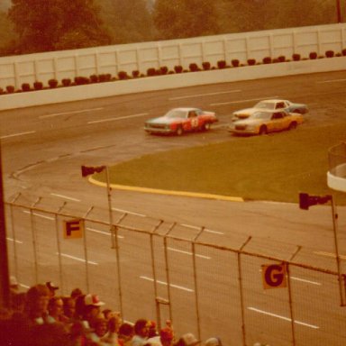
<path id="1" fill-rule="evenodd" d="M 86 213 L 90 205 L 96 205 L 106 215 L 105 188 L 89 184 L 82 178 L 81 165 L 111 166 L 147 153 L 218 141 L 238 141 L 225 130 L 232 111 L 253 105 L 258 100 L 274 97 L 309 105 L 310 113 L 306 115 L 304 126 L 319 127 L 323 135 L 325 123 L 345 121 L 346 71 L 189 87 L 2 112 L 0 138 L 5 200 L 11 201 L 21 193 L 21 199 L 27 200 L 29 204 L 40 196 L 44 201 L 42 206 L 50 206 L 55 210 L 66 202 L 73 205 L 76 213 Z M 189 105 L 215 110 L 220 122 L 211 132 L 192 133 L 183 137 L 150 136 L 143 131 L 144 120 L 159 116 L 169 108 Z M 188 172 L 182 172 L 182 178 L 187 175 Z M 328 206 L 316 206 L 306 212 L 299 210 L 296 204 L 166 196 L 116 188 L 112 192 L 112 205 L 114 211 L 118 212 L 176 222 L 191 228 L 205 227 L 213 235 L 211 241 L 231 247 L 241 246 L 251 236 L 253 241 L 246 250 L 261 250 L 271 256 L 290 259 L 296 252 L 296 247 L 300 247 L 302 250 L 297 261 L 336 269 L 333 259 L 332 218 Z M 338 214 L 343 268 L 346 211 L 340 207 Z M 18 218 L 17 222 L 30 221 Z M 22 227 L 25 228 L 24 224 Z M 25 237 L 27 235 L 23 232 L 23 238 Z M 104 269 L 105 272 L 109 270 L 106 267 Z M 76 275 L 73 270 L 71 275 Z M 138 273 L 138 277 L 143 275 Z M 328 287 L 327 283 L 323 285 Z M 312 287 L 321 289 L 319 286 Z M 313 296 L 319 296 L 318 292 Z M 212 293 L 206 294 L 208 295 L 211 296 Z M 323 290 L 324 300 L 338 304 L 335 302 L 337 295 L 331 298 Z M 253 314 L 254 319 L 256 316 L 260 318 L 263 311 L 267 311 L 264 307 L 268 306 L 263 305 L 259 309 L 253 304 L 249 314 Z M 132 315 L 132 312 L 129 314 Z M 323 311 L 315 314 L 318 314 L 318 321 L 324 321 Z M 282 314 L 273 314 L 272 317 L 279 321 L 281 315 L 284 315 L 284 311 Z M 339 330 L 342 319 L 344 321 L 344 312 L 339 312 L 336 317 L 332 316 L 335 319 L 334 328 Z M 314 320 L 310 318 L 312 316 L 308 317 L 304 320 Z M 314 327 L 309 328 L 314 333 Z M 330 331 L 328 333 L 337 334 Z M 330 344 L 343 344 L 345 334 L 341 334 L 335 340 L 329 339 Z M 313 335 L 308 334 L 305 338 L 317 341 Z M 323 340 L 326 339 L 319 339 L 321 342 Z M 308 343 L 302 341 L 302 344 Z"/>

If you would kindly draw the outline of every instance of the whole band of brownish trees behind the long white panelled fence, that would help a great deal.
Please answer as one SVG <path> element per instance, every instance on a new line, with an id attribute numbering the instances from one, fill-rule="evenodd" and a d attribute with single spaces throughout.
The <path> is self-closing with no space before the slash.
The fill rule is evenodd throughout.
<path id="1" fill-rule="evenodd" d="M 1 0 L 0 4 L 2 56 L 338 23 L 338 4 L 341 23 L 346 21 L 346 2 L 335 0 Z"/>

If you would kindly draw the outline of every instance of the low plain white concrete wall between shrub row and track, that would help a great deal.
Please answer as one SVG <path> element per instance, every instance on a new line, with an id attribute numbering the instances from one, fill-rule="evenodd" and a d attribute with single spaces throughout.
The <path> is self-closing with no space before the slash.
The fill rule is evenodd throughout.
<path id="1" fill-rule="evenodd" d="M 77 87 L 58 87 L 0 96 L 0 111 L 32 105 L 49 105 L 90 98 L 135 94 L 178 87 L 192 87 L 238 80 L 280 77 L 346 68 L 346 57 L 300 60 L 239 68 L 186 72 L 158 77 L 141 77 Z"/>

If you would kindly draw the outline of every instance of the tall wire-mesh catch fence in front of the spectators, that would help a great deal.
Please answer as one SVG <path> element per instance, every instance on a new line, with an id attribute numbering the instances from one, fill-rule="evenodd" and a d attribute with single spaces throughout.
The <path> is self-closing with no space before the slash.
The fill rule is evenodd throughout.
<path id="1" fill-rule="evenodd" d="M 202 341 L 346 342 L 335 259 L 311 249 L 119 210 L 110 227 L 104 209 L 42 198 L 18 196 L 5 212 L 10 273 L 23 290 L 50 280 L 65 296 L 79 287 L 125 321 L 172 320 L 177 335 Z M 71 220 L 82 238 L 64 237 Z M 262 266 L 273 264 L 286 265 L 287 287 L 264 288 Z"/>

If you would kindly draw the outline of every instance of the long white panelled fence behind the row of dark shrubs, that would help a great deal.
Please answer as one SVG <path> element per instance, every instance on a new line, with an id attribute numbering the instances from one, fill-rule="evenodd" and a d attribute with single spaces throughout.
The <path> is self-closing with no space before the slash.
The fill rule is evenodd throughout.
<path id="1" fill-rule="evenodd" d="M 22 56 L 0 58 L 0 87 L 21 88 L 23 83 L 41 81 L 47 86 L 50 78 L 89 77 L 93 74 L 111 74 L 119 71 L 132 74 L 138 70 L 146 74 L 148 68 L 177 65 L 188 68 L 190 63 L 200 67 L 208 61 L 212 66 L 218 60 L 228 64 L 239 59 L 261 61 L 294 53 L 307 58 L 315 51 L 324 56 L 326 50 L 335 53 L 346 48 L 346 23 L 307 26 L 262 32 L 241 32 L 205 36 L 185 40 L 153 41 L 83 50 L 63 50 Z"/>

